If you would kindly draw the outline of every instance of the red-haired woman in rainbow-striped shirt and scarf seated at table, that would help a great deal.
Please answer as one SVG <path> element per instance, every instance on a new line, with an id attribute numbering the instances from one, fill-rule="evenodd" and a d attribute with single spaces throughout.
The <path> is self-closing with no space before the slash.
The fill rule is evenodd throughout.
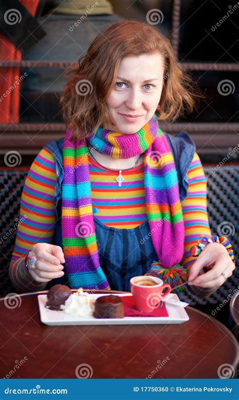
<path id="1" fill-rule="evenodd" d="M 129 291 L 130 278 L 147 273 L 173 286 L 189 278 L 194 294 L 208 296 L 234 261 L 228 243 L 210 239 L 194 142 L 159 128 L 197 99 L 170 42 L 148 24 L 115 22 L 70 75 L 61 98 L 67 133 L 44 146 L 24 185 L 15 287 Z M 211 243 L 196 259 L 201 235 Z"/>

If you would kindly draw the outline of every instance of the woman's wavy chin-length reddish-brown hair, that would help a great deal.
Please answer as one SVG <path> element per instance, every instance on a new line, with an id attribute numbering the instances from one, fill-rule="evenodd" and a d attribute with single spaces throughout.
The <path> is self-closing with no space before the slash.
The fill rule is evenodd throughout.
<path id="1" fill-rule="evenodd" d="M 119 21 L 107 25 L 90 44 L 78 65 L 68 71 L 59 106 L 71 139 L 87 138 L 89 128 L 113 125 L 106 100 L 111 92 L 118 65 L 124 57 L 160 53 L 163 58 L 163 87 L 160 122 L 172 122 L 187 109 L 192 112 L 200 92 L 195 82 L 178 65 L 170 41 L 147 23 Z M 79 93 L 79 88 L 81 93 Z M 87 133 L 88 131 L 88 133 Z"/>

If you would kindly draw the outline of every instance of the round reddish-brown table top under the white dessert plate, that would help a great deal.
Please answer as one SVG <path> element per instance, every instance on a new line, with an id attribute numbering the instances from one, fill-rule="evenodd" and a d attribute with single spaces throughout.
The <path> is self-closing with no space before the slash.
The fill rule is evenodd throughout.
<path id="1" fill-rule="evenodd" d="M 224 364 L 236 377 L 235 337 L 189 306 L 182 324 L 47 326 L 37 294 L 21 295 L 12 309 L 0 299 L 2 378 L 219 378 Z"/>

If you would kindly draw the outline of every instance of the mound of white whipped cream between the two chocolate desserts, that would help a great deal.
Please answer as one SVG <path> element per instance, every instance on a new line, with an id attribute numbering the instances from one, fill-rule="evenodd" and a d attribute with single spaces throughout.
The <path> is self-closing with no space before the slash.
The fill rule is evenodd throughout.
<path id="1" fill-rule="evenodd" d="M 83 289 L 78 289 L 66 300 L 65 305 L 61 305 L 61 309 L 66 314 L 77 315 L 79 317 L 88 317 L 93 313 L 94 302 L 88 293 L 84 293 Z"/>

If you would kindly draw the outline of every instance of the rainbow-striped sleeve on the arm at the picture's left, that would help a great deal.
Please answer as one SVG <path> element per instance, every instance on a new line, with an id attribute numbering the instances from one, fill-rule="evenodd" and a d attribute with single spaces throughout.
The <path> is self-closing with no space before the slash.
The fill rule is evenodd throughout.
<path id="1" fill-rule="evenodd" d="M 25 257 L 35 243 L 52 244 L 55 224 L 55 162 L 43 148 L 33 161 L 22 191 L 19 225 L 10 262 L 10 278 L 18 292 L 43 290 L 47 282 L 36 282 L 25 267 Z"/>

